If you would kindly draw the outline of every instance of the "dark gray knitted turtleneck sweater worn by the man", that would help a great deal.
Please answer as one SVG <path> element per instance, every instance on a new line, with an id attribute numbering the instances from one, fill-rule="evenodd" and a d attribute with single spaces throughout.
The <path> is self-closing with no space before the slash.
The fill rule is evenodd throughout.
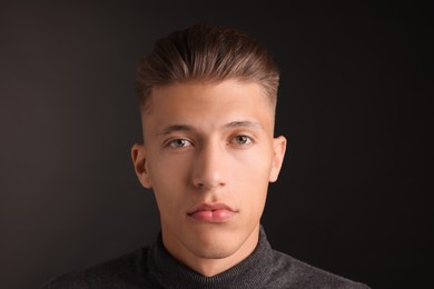
<path id="1" fill-rule="evenodd" d="M 57 288 L 346 288 L 369 287 L 324 271 L 288 255 L 273 250 L 263 228 L 255 251 L 237 266 L 204 277 L 174 259 L 161 236 L 141 248 L 92 268 L 59 276 L 43 289 Z"/>

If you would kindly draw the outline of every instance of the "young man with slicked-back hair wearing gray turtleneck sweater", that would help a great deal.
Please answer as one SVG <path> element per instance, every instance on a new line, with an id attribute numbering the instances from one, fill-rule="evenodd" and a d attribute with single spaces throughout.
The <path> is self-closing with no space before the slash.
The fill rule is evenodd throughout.
<path id="1" fill-rule="evenodd" d="M 286 148 L 274 137 L 279 73 L 230 28 L 195 24 L 160 39 L 137 79 L 155 243 L 61 276 L 47 288 L 368 288 L 275 251 L 260 217 Z"/>

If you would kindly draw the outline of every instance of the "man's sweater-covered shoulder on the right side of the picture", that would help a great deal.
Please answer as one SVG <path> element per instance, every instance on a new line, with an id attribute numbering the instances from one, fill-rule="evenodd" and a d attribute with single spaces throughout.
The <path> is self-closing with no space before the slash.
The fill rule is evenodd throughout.
<path id="1" fill-rule="evenodd" d="M 303 262 L 286 253 L 274 251 L 273 276 L 280 288 L 368 289 L 369 287 Z"/>

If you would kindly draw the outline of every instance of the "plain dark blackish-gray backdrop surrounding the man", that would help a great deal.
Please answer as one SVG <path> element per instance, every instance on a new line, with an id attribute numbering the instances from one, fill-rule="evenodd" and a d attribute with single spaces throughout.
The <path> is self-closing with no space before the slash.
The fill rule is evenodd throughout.
<path id="1" fill-rule="evenodd" d="M 136 64 L 204 20 L 245 30 L 282 70 L 276 134 L 289 147 L 263 218 L 272 245 L 373 288 L 433 288 L 431 7 L 0 3 L 1 288 L 154 240 L 155 200 L 129 155 L 141 141 Z"/>

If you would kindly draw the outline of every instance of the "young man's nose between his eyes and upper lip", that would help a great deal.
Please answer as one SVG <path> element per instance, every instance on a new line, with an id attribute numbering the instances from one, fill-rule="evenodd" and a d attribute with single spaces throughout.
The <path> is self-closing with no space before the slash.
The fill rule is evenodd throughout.
<path id="1" fill-rule="evenodd" d="M 213 190 L 226 185 L 225 148 L 207 143 L 197 151 L 193 171 L 193 185 L 204 190 Z"/>

